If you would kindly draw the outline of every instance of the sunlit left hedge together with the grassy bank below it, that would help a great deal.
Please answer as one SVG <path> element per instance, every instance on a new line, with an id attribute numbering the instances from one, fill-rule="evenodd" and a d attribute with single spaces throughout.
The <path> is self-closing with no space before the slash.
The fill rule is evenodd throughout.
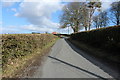
<path id="1" fill-rule="evenodd" d="M 2 36 L 3 77 L 19 71 L 42 57 L 58 38 L 51 34 L 5 34 Z"/>

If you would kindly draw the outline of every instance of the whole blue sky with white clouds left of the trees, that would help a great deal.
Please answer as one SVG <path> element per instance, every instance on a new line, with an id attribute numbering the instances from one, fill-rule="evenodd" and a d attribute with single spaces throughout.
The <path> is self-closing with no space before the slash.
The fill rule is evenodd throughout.
<path id="1" fill-rule="evenodd" d="M 67 29 L 59 28 L 59 16 L 62 7 L 70 1 L 73 0 L 3 0 L 0 3 L 0 30 L 2 33 L 67 33 Z M 113 1 L 104 0 L 103 10 L 109 8 Z"/>

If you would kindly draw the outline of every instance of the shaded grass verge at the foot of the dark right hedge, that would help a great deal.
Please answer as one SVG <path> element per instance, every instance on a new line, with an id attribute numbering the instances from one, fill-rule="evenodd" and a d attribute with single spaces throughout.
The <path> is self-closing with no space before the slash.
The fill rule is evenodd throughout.
<path id="1" fill-rule="evenodd" d="M 100 62 L 111 68 L 112 70 L 115 70 L 119 73 L 119 55 L 111 55 L 108 54 L 106 51 L 92 47 L 90 45 L 81 43 L 76 40 L 68 39 L 72 44 L 74 44 L 76 47 L 80 48 L 81 50 L 85 51 L 88 55 L 97 58 Z"/>

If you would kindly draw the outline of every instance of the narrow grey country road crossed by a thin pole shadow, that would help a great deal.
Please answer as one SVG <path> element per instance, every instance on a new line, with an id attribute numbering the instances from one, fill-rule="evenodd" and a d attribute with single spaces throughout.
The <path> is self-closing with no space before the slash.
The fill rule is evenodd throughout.
<path id="1" fill-rule="evenodd" d="M 84 53 L 81 51 L 81 54 Z M 111 78 L 109 74 L 73 50 L 65 39 L 56 42 L 33 77 Z"/>

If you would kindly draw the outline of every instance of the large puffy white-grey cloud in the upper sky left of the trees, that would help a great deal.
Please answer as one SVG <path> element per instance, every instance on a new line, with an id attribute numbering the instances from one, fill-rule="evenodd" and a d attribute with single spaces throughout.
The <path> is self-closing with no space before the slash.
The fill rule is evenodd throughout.
<path id="1" fill-rule="evenodd" d="M 34 25 L 27 27 L 28 29 L 52 32 L 59 27 L 59 23 L 53 22 L 51 20 L 51 15 L 52 13 L 61 10 L 63 5 L 59 0 L 56 0 L 55 2 L 49 1 L 50 0 L 26 2 L 26 0 L 24 0 L 14 16 L 23 17 Z M 37 27 L 35 27 L 36 25 Z"/>

